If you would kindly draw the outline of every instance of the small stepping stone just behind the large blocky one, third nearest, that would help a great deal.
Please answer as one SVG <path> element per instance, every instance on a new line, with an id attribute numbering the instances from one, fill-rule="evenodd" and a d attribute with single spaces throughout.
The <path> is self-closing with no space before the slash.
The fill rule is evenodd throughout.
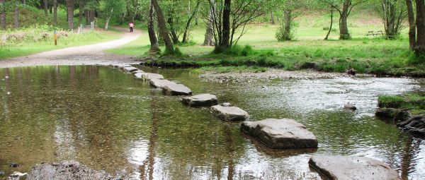
<path id="1" fill-rule="evenodd" d="M 211 113 L 223 121 L 245 121 L 249 118 L 249 114 L 239 107 L 215 105 L 211 107 Z"/>

